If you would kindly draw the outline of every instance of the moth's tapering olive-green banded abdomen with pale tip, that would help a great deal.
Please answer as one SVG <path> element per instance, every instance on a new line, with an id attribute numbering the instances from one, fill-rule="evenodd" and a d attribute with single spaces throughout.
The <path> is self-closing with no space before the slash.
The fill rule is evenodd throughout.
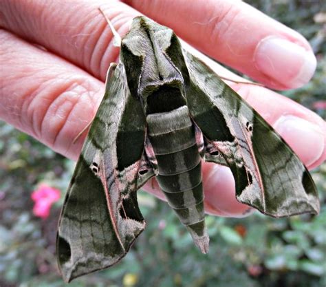
<path id="1" fill-rule="evenodd" d="M 157 160 L 157 182 L 197 246 L 206 253 L 201 157 L 188 108 L 149 114 L 147 123 Z"/>

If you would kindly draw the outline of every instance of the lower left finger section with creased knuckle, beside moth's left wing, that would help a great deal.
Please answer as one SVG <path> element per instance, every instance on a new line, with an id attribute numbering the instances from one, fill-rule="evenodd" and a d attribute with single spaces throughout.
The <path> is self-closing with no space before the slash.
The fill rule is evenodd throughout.
<path id="1" fill-rule="evenodd" d="M 0 30 L 0 118 L 76 160 L 104 83 L 67 61 Z"/>

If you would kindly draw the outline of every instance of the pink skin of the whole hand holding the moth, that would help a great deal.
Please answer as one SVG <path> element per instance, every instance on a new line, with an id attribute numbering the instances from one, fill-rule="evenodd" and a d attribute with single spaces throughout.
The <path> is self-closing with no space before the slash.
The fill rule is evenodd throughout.
<path id="1" fill-rule="evenodd" d="M 128 31 L 133 17 L 145 14 L 265 87 L 291 89 L 312 76 L 313 71 L 298 81 L 300 61 L 288 61 L 288 69 L 282 68 L 283 63 L 261 67 L 255 53 L 270 36 L 307 53 L 312 50 L 303 36 L 241 1 L 0 1 L 0 118 L 72 160 L 77 160 L 86 133 L 75 144 L 72 141 L 94 117 L 104 94 L 107 68 L 118 59 L 119 50 L 113 47 L 113 35 L 99 6 L 120 35 Z M 189 49 L 217 74 L 239 80 Z M 274 59 L 274 51 L 264 51 L 264 59 Z M 277 78 L 268 76 L 271 68 Z M 309 169 L 325 160 L 323 119 L 268 88 L 229 84 L 280 132 Z M 280 123 L 289 116 L 294 119 L 292 128 L 285 129 Z M 250 213 L 248 206 L 235 200 L 228 168 L 205 163 L 203 176 L 208 213 L 232 217 Z M 145 189 L 163 196 L 156 182 Z"/>

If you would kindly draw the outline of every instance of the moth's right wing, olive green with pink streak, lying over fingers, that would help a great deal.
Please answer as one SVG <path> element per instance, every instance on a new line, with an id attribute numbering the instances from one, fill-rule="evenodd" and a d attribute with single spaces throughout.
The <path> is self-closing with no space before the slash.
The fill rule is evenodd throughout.
<path id="1" fill-rule="evenodd" d="M 226 160 L 237 200 L 274 217 L 318 213 L 316 187 L 294 151 L 208 66 L 186 51 L 184 58 L 189 112 L 219 152 L 206 158 Z"/>

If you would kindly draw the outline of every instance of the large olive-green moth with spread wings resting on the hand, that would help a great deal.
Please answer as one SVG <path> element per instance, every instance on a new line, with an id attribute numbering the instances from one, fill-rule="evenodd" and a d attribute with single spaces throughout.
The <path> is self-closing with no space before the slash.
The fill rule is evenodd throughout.
<path id="1" fill-rule="evenodd" d="M 208 252 L 202 160 L 230 167 L 236 197 L 266 215 L 318 213 L 298 156 L 173 30 L 133 19 L 70 182 L 57 235 L 65 281 L 116 264 L 145 228 L 137 191 L 156 177 Z"/>

